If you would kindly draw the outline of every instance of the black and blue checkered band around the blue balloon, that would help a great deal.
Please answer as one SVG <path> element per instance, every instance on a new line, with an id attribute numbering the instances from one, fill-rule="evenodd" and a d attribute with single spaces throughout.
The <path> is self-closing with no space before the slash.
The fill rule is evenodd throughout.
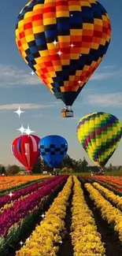
<path id="1" fill-rule="evenodd" d="M 50 144 L 50 147 L 44 147 L 44 145 L 40 145 L 39 150 L 41 151 L 42 156 L 46 156 L 46 154 L 55 155 L 55 154 L 65 154 L 67 152 L 68 147 L 65 144 L 61 144 L 61 147 L 56 147 L 54 144 Z"/>

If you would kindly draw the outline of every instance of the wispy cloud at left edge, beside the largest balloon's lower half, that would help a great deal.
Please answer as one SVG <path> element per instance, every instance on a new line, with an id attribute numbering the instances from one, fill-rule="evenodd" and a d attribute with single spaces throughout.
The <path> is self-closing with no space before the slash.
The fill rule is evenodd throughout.
<path id="1" fill-rule="evenodd" d="M 35 85 L 40 84 L 39 77 L 25 72 L 22 69 L 17 69 L 14 66 L 0 65 L 0 87 L 13 87 L 18 85 Z"/>

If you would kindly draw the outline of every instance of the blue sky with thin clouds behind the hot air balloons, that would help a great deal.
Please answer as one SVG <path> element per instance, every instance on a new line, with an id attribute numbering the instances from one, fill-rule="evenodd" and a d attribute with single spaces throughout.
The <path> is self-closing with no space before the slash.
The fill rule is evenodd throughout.
<path id="1" fill-rule="evenodd" d="M 20 9 L 26 0 L 4 0 L 0 2 L 0 162 L 4 165 L 17 164 L 10 145 L 20 132 L 21 124 L 36 135 L 43 137 L 58 134 L 68 140 L 68 154 L 72 158 L 83 158 L 91 164 L 87 154 L 76 138 L 79 118 L 92 111 L 113 113 L 122 121 L 122 33 L 121 0 L 100 1 L 109 13 L 112 23 L 112 40 L 105 59 L 94 72 L 94 76 L 83 88 L 73 105 L 74 118 L 61 118 L 62 102 L 41 84 L 31 69 L 20 57 L 15 43 L 15 25 Z M 25 111 L 20 119 L 13 111 L 18 106 Z M 122 165 L 122 142 L 110 159 L 113 165 Z"/>

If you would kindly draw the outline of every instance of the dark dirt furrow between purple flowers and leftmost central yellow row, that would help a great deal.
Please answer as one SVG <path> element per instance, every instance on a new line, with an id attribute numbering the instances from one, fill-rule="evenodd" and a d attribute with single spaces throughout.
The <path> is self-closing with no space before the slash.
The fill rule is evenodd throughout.
<path id="1" fill-rule="evenodd" d="M 54 198 L 57 197 L 58 193 L 62 190 L 63 187 L 64 187 L 64 185 L 60 187 L 58 192 L 56 191 L 54 193 Z M 50 199 L 50 202 L 44 206 L 42 213 L 45 213 L 47 210 L 49 210 L 51 204 L 54 202 L 54 198 L 52 197 Z M 37 214 L 37 216 L 35 217 L 33 222 L 27 228 L 24 229 L 25 232 L 20 236 L 18 243 L 13 243 L 11 245 L 11 247 L 9 247 L 8 253 L 5 254 L 5 256 L 15 256 L 16 255 L 16 251 L 20 250 L 20 248 L 21 248 L 20 241 L 25 243 L 26 239 L 28 239 L 28 237 L 31 236 L 31 232 L 33 232 L 35 230 L 36 225 L 40 224 L 40 222 L 43 220 L 43 217 L 41 216 L 42 213 L 40 212 L 39 214 Z"/>

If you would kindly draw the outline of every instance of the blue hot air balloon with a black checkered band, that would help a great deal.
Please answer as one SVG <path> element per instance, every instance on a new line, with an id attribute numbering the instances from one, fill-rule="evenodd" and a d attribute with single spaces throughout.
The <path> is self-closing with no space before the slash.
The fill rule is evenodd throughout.
<path id="1" fill-rule="evenodd" d="M 40 155 L 53 168 L 59 167 L 67 150 L 67 141 L 59 135 L 48 135 L 39 141 Z"/>

